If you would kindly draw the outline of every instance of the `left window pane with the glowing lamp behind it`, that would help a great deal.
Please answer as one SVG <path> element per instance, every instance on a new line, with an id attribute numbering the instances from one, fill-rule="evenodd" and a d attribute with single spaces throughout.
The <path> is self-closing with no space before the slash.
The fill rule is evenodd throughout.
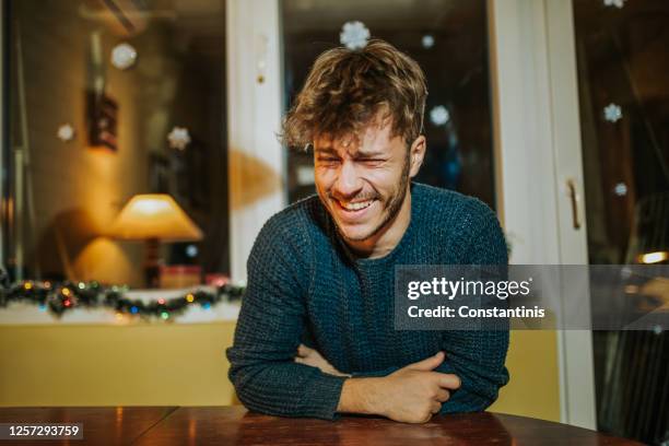
<path id="1" fill-rule="evenodd" d="M 145 286 L 153 233 L 121 239 L 114 222 L 148 192 L 202 232 L 155 235 L 166 266 L 189 266 L 164 284 L 227 273 L 224 1 L 16 0 L 8 22 L 19 275 Z"/>

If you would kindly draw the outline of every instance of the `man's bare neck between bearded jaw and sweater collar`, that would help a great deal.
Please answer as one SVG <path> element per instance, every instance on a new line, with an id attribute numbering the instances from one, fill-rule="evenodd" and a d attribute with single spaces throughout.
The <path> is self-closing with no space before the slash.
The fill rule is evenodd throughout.
<path id="1" fill-rule="evenodd" d="M 345 240 L 345 244 L 361 258 L 377 259 L 388 255 L 402 239 L 411 222 L 411 190 L 407 190 L 402 206 L 386 225 L 372 237 L 361 240 Z"/>

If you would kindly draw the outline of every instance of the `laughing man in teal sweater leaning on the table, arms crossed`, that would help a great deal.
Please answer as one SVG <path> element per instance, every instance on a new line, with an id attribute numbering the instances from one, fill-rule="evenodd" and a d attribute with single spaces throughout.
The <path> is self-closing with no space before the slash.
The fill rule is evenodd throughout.
<path id="1" fill-rule="evenodd" d="M 420 423 L 484 410 L 507 383 L 508 331 L 394 329 L 396 265 L 507 262 L 485 204 L 412 183 L 426 94 L 416 62 L 385 42 L 316 60 L 282 136 L 313 148 L 318 195 L 262 227 L 227 350 L 248 409 Z"/>

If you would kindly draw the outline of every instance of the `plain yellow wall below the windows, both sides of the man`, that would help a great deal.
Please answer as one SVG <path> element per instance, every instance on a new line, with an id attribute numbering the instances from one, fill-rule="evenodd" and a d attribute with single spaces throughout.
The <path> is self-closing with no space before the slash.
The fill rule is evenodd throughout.
<path id="1" fill-rule="evenodd" d="M 234 322 L 0 327 L 0 406 L 226 406 Z M 514 331 L 493 411 L 560 420 L 554 331 Z"/>

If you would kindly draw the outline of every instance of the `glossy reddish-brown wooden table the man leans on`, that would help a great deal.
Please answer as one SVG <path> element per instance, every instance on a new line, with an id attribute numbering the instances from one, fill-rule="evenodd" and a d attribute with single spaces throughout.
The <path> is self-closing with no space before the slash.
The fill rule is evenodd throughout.
<path id="1" fill-rule="evenodd" d="M 282 419 L 242 407 L 0 408 L 0 423 L 83 423 L 83 441 L 13 445 L 638 445 L 585 429 L 524 416 L 473 413 L 425 424 L 343 416 Z"/>

